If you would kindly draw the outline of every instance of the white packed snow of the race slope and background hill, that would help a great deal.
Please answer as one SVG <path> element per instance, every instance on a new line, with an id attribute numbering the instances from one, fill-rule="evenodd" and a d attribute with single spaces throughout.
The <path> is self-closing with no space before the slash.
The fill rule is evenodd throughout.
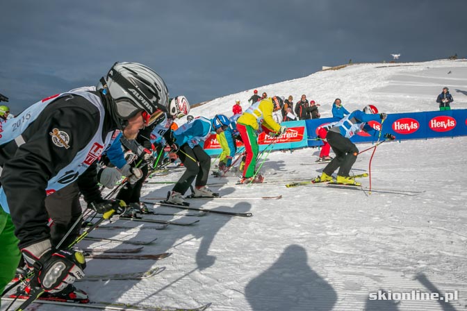
<path id="1" fill-rule="evenodd" d="M 351 65 L 257 89 L 260 94 L 292 94 L 295 102 L 306 94 L 321 104 L 322 117 L 330 117 L 336 97 L 350 111 L 369 103 L 387 113 L 438 110 L 436 96 L 444 86 L 454 97 L 452 109 L 466 109 L 466 60 Z M 192 115 L 230 116 L 235 99 L 241 100 L 245 110 L 252 90 L 214 99 L 192 109 Z M 269 183 L 238 186 L 233 185 L 238 176 L 211 176 L 212 190 L 223 198 L 237 199 L 191 203 L 206 209 L 252 212 L 253 217 L 179 217 L 199 222 L 170 225 L 165 230 L 142 230 L 154 224 L 119 220 L 116 224 L 135 229 L 97 229 L 92 235 L 133 240 L 158 237 L 142 253 L 172 255 L 156 262 L 93 259 L 85 272 L 147 271 L 151 267 L 165 267 L 165 271 L 144 280 L 80 282 L 77 287 L 88 292 L 92 301 L 184 308 L 212 303 L 208 310 L 215 311 L 467 310 L 467 160 L 462 147 L 466 144 L 467 137 L 381 144 L 372 159 L 371 193 L 355 187 L 287 188 L 287 180 L 320 174 L 325 165 L 313 164 L 319 150 L 271 152 L 262 168 Z M 363 150 L 371 145 L 358 146 Z M 353 174 L 368 171 L 370 155 L 371 151 L 359 155 Z M 143 199 L 164 197 L 172 184 L 155 182 L 176 181 L 182 173 L 177 168 L 167 176 L 149 179 Z M 361 183 L 368 185 L 368 178 Z M 282 199 L 249 199 L 278 195 Z M 457 300 L 371 300 L 370 294 L 379 290 L 383 294 L 457 291 Z M 2 303 L 1 310 L 5 308 Z M 87 310 L 80 306 L 33 308 Z"/>

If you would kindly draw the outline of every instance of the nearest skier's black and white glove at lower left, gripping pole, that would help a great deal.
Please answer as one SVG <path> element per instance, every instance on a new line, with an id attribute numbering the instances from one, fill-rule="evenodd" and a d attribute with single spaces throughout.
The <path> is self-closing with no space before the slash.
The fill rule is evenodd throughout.
<path id="1" fill-rule="evenodd" d="M 84 277 L 86 261 L 79 251 L 52 251 L 47 239 L 27 246 L 21 252 L 28 267 L 35 272 L 31 285 L 38 285 L 45 292 L 60 292 Z"/>

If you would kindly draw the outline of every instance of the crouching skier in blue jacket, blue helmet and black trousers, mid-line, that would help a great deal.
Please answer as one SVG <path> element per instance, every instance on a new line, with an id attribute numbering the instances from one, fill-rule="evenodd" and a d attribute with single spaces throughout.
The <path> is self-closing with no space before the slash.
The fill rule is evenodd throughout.
<path id="1" fill-rule="evenodd" d="M 198 117 L 190 123 L 183 124 L 177 131 L 173 132 L 173 138 L 170 137 L 167 143 L 172 146 L 172 150 L 177 151 L 186 171 L 169 192 L 167 203 L 188 205 L 188 202 L 183 199 L 183 194 L 186 193 L 195 178 L 194 196 L 218 195 L 206 187 L 211 168 L 211 157 L 204 151 L 203 146 L 211 132 L 220 134 L 229 127 L 229 124 L 229 118 L 225 115 L 215 115 L 213 119 Z"/>

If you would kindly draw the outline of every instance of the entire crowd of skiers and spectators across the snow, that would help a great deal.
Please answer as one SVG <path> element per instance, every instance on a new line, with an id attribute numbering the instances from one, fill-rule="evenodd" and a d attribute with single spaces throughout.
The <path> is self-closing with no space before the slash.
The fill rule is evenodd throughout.
<path id="1" fill-rule="evenodd" d="M 444 107 L 452 101 L 446 92 L 440 95 Z M 72 248 L 81 228 L 81 194 L 90 210 L 105 217 L 144 213 L 140 193 L 145 178 L 166 159 L 178 158 L 186 170 L 167 194 L 167 203 L 186 205 L 190 187 L 192 196 L 217 196 L 206 187 L 211 157 L 204 142 L 213 133 L 222 146 L 220 174 L 235 164 L 240 141 L 245 150 L 237 158 L 238 183 L 261 183 L 259 133 L 277 138 L 287 131 L 283 121 L 320 117 L 320 105 L 306 95 L 294 107 L 293 96 L 259 96 L 254 90 L 249 104 L 243 111 L 237 100 L 231 117 L 194 118 L 188 115 L 186 97 L 170 98 L 154 70 L 116 62 L 97 87 L 42 99 L 17 116 L 19 124 L 8 120 L 8 107 L 0 106 L 0 291 L 22 258 L 34 272 L 25 290 L 85 301 L 87 294 L 72 285 L 85 269 L 83 254 Z M 320 128 L 317 138 L 324 143 L 320 159 L 329 164 L 313 181 L 331 181 L 338 169 L 337 183 L 359 185 L 350 176 L 359 154 L 350 139 L 359 131 L 381 135 L 368 121 L 383 121 L 387 115 L 372 105 L 349 112 L 341 99 L 334 101 L 332 115 L 339 121 Z M 187 121 L 177 126 L 174 121 L 181 117 Z M 395 139 L 390 133 L 383 137 Z M 335 158 L 329 157 L 330 149 Z M 122 177 L 126 187 L 115 199 L 104 198 L 99 184 L 112 189 Z"/>

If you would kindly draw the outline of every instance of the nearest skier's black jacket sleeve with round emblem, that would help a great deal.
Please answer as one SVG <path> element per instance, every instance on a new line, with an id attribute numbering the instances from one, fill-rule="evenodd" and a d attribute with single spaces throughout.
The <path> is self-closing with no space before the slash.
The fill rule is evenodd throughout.
<path id="1" fill-rule="evenodd" d="M 99 111 L 92 103 L 66 96 L 50 103 L 22 134 L 25 143 L 4 162 L 1 174 L 19 248 L 49 239 L 44 204 L 48 180 L 72 162 L 98 126 Z M 54 144 L 50 133 L 55 128 L 68 134 L 68 149 Z"/>

